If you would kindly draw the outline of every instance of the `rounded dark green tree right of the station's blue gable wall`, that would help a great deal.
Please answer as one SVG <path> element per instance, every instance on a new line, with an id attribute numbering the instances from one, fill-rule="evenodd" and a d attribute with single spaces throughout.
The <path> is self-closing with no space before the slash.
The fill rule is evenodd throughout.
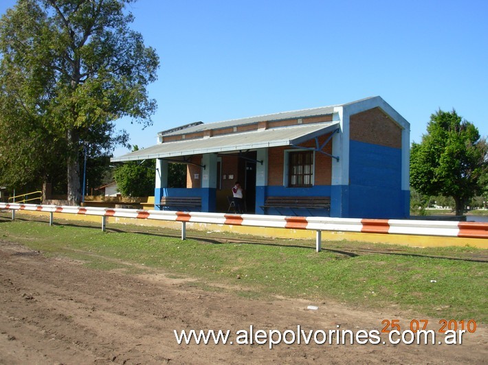
<path id="1" fill-rule="evenodd" d="M 455 110 L 432 114 L 421 143 L 412 143 L 410 185 L 426 196 L 451 196 L 456 215 L 482 189 L 487 143 Z"/>

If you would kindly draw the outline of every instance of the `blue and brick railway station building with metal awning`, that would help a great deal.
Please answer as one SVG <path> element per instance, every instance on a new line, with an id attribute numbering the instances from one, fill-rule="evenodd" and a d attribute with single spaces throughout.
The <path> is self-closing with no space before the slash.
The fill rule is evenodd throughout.
<path id="1" fill-rule="evenodd" d="M 359 218 L 410 215 L 410 124 L 381 97 L 159 132 L 112 158 L 155 159 L 155 209 L 232 211 L 239 180 L 252 214 Z M 186 165 L 169 187 L 168 165 Z"/>

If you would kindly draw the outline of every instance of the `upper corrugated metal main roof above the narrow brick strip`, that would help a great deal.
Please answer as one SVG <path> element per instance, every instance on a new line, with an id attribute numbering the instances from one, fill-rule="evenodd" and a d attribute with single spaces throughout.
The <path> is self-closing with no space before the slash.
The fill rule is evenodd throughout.
<path id="1" fill-rule="evenodd" d="M 198 126 L 190 126 L 188 128 L 179 129 L 176 131 L 170 130 L 170 132 L 159 132 L 158 134 L 160 136 L 173 136 L 175 134 L 187 134 L 187 133 L 201 132 L 203 130 L 211 130 L 217 128 L 244 126 L 245 124 L 258 123 L 260 121 L 278 121 L 278 120 L 296 119 L 296 118 L 304 118 L 304 117 L 319 117 L 321 115 L 332 114 L 333 111 L 334 111 L 334 106 L 324 106 L 322 108 L 293 110 L 290 112 L 258 115 L 257 117 L 232 119 L 228 121 L 217 121 L 214 123 L 201 123 Z"/>

